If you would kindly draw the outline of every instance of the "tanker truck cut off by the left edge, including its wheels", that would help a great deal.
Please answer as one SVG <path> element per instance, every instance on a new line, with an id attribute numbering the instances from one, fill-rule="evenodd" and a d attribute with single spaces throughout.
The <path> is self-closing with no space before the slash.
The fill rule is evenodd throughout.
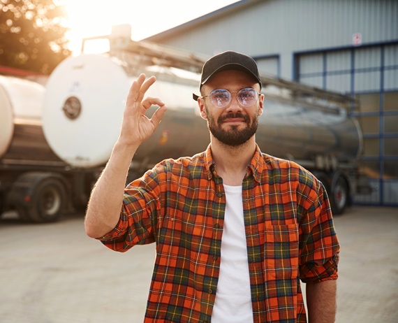
<path id="1" fill-rule="evenodd" d="M 29 222 L 56 221 L 85 206 L 87 182 L 101 171 L 73 169 L 50 148 L 43 133 L 44 94 L 37 82 L 0 76 L 0 216 L 16 210 Z"/>

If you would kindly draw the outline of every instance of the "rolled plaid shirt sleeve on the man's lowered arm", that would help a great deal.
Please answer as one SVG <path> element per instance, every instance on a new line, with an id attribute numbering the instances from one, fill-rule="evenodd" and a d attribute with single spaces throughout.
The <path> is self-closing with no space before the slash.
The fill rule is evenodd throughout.
<path id="1" fill-rule="evenodd" d="M 320 282 L 338 278 L 340 245 L 323 184 L 314 178 L 311 189 L 301 194 L 300 279 Z"/>

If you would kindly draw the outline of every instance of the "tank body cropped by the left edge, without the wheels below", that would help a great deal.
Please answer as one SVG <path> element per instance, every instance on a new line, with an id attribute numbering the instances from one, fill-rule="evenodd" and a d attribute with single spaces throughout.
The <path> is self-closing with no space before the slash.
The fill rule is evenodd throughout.
<path id="1" fill-rule="evenodd" d="M 37 82 L 0 76 L 2 164 L 60 161 L 45 140 L 41 113 L 45 88 Z"/>

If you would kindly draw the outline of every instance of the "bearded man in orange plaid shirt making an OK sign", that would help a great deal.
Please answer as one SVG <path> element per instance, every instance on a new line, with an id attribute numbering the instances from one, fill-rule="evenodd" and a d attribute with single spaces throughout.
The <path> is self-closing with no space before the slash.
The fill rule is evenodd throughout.
<path id="1" fill-rule="evenodd" d="M 124 252 L 156 243 L 145 322 L 334 322 L 339 243 L 323 185 L 292 161 L 260 152 L 264 95 L 256 62 L 223 52 L 202 69 L 200 115 L 210 145 L 168 159 L 124 189 L 137 148 L 167 110 L 141 75 L 121 134 L 91 194 L 85 227 Z M 144 113 L 158 105 L 152 119 Z"/>

